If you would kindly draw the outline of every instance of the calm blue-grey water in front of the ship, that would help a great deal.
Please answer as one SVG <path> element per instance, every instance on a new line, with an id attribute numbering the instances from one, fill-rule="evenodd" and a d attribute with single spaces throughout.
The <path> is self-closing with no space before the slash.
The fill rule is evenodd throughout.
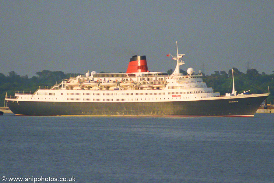
<path id="1" fill-rule="evenodd" d="M 5 182 L 16 177 L 67 178 L 67 182 L 73 177 L 74 182 L 92 183 L 274 182 L 274 114 L 249 118 L 4 114 L 0 145 L 0 178 L 5 176 Z M 28 180 L 24 182 L 33 182 Z"/>

